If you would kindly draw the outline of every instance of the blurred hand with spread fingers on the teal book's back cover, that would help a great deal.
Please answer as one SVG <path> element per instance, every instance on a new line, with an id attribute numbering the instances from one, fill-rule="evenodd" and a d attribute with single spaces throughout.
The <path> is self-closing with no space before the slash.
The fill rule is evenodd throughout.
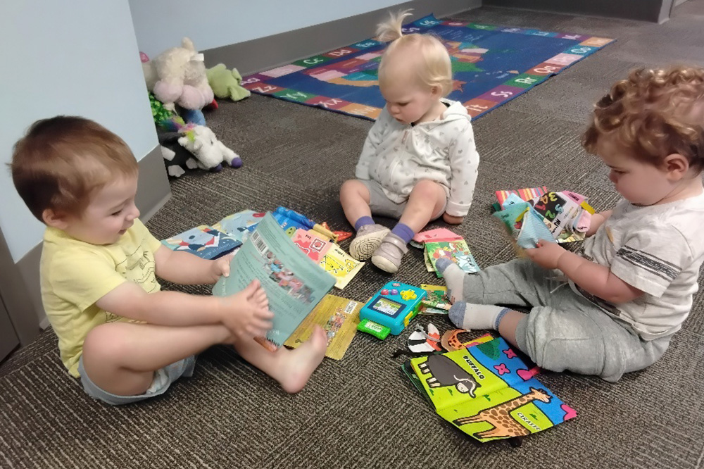
<path id="1" fill-rule="evenodd" d="M 222 324 L 236 339 L 263 337 L 272 327 L 274 313 L 258 280 L 253 280 L 241 292 L 220 297 Z"/>

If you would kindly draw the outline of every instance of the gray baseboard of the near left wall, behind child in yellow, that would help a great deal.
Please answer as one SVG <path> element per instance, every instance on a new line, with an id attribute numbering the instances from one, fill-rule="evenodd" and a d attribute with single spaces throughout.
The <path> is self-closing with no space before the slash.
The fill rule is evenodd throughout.
<path id="1" fill-rule="evenodd" d="M 161 147 L 156 146 L 139 161 L 137 208 L 139 218 L 146 222 L 171 196 Z M 1 253 L 0 253 L 1 254 Z M 14 265 L 0 269 L 3 282 L 2 299 L 20 339 L 25 346 L 37 337 L 40 330 L 49 327 L 49 320 L 42 306 L 39 288 L 39 260 L 42 244 L 37 244 Z M 4 261 L 4 257 L 0 260 Z"/>

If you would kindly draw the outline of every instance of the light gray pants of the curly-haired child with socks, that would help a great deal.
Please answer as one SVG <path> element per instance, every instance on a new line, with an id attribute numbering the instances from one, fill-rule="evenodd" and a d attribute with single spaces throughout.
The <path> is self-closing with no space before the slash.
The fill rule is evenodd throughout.
<path id="1" fill-rule="evenodd" d="M 616 316 L 572 291 L 527 259 L 467 275 L 465 301 L 531 307 L 516 329 L 518 347 L 541 368 L 596 375 L 615 382 L 665 353 L 672 336 L 646 341 Z"/>

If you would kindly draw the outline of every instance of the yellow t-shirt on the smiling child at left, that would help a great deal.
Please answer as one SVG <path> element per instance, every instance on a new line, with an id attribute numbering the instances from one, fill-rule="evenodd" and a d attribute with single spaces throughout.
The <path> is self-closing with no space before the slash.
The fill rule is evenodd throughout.
<path id="1" fill-rule="evenodd" d="M 134 282 L 144 291 L 158 292 L 154 253 L 161 242 L 138 219 L 118 242 L 96 246 L 79 241 L 56 228 L 44 232 L 39 274 L 42 302 L 58 336 L 61 361 L 78 377 L 83 341 L 96 325 L 127 321 L 108 313 L 95 302 L 122 282 Z"/>

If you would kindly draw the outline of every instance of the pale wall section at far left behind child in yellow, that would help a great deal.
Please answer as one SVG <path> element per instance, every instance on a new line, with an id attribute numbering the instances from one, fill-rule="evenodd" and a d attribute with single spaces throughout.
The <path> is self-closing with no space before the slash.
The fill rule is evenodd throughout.
<path id="1" fill-rule="evenodd" d="M 16 262 L 44 233 L 5 168 L 34 120 L 96 120 L 138 160 L 158 141 L 127 0 L 6 1 L 0 31 L 0 228 Z"/>

